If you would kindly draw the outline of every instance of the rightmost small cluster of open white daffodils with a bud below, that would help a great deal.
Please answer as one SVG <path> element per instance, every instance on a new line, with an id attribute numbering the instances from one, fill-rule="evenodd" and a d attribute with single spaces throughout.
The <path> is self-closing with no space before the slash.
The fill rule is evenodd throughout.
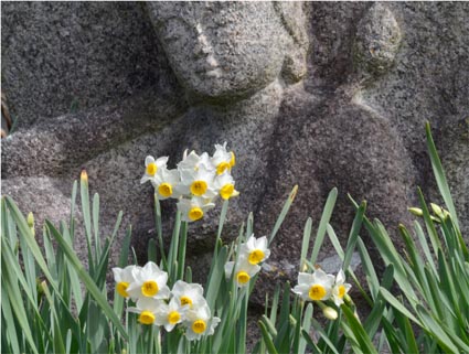
<path id="1" fill-rule="evenodd" d="M 327 307 L 322 301 L 332 300 L 337 307 L 340 307 L 351 287 L 350 283 L 345 282 L 345 275 L 342 269 L 337 276 L 328 275 L 322 269 L 316 269 L 312 273 L 300 272 L 298 285 L 292 289 L 292 292 L 300 296 L 305 301 L 316 301 L 328 319 L 335 320 L 337 311 Z"/>

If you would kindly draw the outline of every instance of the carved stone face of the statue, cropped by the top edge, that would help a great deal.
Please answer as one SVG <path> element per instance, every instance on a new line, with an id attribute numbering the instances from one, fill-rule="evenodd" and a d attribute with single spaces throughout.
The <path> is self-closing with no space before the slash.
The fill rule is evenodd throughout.
<path id="1" fill-rule="evenodd" d="M 189 94 L 232 100 L 279 77 L 291 39 L 270 2 L 147 6 L 170 65 Z"/>

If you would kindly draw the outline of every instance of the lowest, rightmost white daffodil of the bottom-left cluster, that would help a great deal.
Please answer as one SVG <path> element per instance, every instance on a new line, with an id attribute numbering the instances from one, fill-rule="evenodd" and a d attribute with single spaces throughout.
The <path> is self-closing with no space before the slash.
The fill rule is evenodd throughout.
<path id="1" fill-rule="evenodd" d="M 220 323 L 218 318 L 212 318 L 209 305 L 199 307 L 186 312 L 186 321 L 184 321 L 185 336 L 189 341 L 200 340 L 202 335 L 212 335 L 216 325 Z"/>

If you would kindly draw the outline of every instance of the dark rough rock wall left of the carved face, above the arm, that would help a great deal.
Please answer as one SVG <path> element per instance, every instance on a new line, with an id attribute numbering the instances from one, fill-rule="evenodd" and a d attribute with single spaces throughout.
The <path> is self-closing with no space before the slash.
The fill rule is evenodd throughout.
<path id="1" fill-rule="evenodd" d="M 2 1 L 1 23 L 2 92 L 19 129 L 171 87 L 141 3 Z"/>

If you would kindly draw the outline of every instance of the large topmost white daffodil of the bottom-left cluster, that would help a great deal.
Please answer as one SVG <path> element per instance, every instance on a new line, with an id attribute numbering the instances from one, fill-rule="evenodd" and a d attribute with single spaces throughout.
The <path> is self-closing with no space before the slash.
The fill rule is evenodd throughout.
<path id="1" fill-rule="evenodd" d="M 154 262 L 149 261 L 143 268 L 134 268 L 132 276 L 135 281 L 127 288 L 127 293 L 132 299 L 169 298 L 170 291 L 167 286 L 168 273 L 160 270 Z"/>

